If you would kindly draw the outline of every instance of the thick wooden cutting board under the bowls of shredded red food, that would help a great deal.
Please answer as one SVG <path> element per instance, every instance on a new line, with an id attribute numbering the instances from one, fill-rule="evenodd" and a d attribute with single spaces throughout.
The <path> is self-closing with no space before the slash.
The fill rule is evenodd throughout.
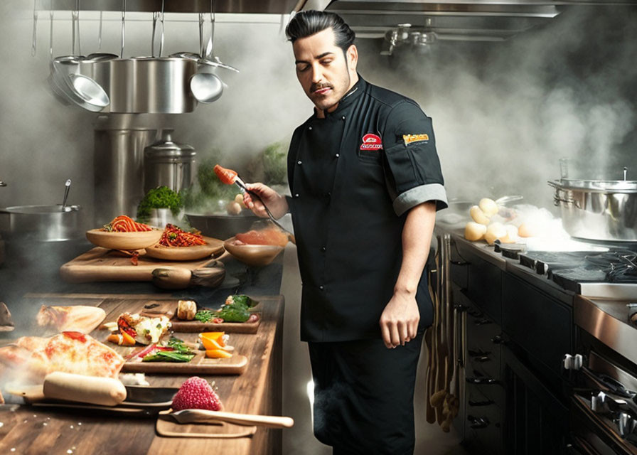
<path id="1" fill-rule="evenodd" d="M 140 255 L 137 265 L 131 258 L 114 250 L 95 247 L 71 259 L 60 267 L 60 276 L 67 282 L 149 282 L 154 269 L 179 267 L 189 270 L 199 269 L 215 259 L 206 257 L 197 261 L 165 261 Z"/>

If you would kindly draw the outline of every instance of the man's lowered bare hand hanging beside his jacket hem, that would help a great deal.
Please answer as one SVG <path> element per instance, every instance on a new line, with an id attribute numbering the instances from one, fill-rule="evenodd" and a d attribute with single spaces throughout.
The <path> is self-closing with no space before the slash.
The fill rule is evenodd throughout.
<path id="1" fill-rule="evenodd" d="M 385 346 L 405 346 L 405 343 L 416 338 L 419 321 L 415 294 L 395 292 L 380 315 L 380 332 Z"/>

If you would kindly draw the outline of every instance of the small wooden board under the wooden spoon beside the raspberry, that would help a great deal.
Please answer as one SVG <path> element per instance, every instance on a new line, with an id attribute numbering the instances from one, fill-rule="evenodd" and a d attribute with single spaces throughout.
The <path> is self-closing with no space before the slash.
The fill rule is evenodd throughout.
<path id="1" fill-rule="evenodd" d="M 160 412 L 155 424 L 157 434 L 182 438 L 242 438 L 257 432 L 257 427 L 220 422 L 218 424 L 179 424 L 175 419 Z"/>

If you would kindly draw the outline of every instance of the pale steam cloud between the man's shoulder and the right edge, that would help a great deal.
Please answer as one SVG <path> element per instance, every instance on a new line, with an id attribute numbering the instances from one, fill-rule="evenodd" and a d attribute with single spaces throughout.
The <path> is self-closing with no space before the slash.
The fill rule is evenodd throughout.
<path id="1" fill-rule="evenodd" d="M 428 55 L 398 55 L 396 70 L 361 53 L 361 73 L 432 117 L 450 197 L 522 194 L 550 207 L 560 158 L 571 178 L 619 179 L 622 166 L 637 176 L 635 17 L 568 9 L 503 43 L 439 41 Z"/>

